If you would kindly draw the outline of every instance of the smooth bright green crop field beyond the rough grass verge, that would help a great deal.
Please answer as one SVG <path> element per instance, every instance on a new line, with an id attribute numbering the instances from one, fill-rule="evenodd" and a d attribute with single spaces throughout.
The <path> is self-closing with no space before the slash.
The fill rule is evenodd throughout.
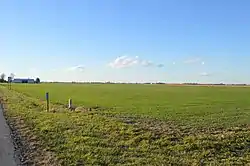
<path id="1" fill-rule="evenodd" d="M 195 125 L 250 122 L 250 88 L 123 84 L 41 84 L 13 88 L 52 103 L 99 106 L 116 113 L 143 115 Z"/>

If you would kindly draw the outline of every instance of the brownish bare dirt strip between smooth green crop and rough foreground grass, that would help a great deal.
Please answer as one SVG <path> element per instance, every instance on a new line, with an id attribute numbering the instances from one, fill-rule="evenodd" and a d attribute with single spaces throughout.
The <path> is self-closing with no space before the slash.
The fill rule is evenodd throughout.
<path id="1" fill-rule="evenodd" d="M 250 125 L 238 125 L 235 127 L 192 127 L 188 125 L 178 125 L 173 121 L 164 121 L 154 118 L 141 118 L 136 116 L 121 116 L 121 115 L 105 115 L 115 118 L 123 123 L 133 125 L 135 128 L 150 131 L 158 136 L 178 136 L 180 138 L 187 136 L 195 136 L 199 134 L 208 135 L 223 135 L 225 133 L 238 133 L 250 130 Z"/>

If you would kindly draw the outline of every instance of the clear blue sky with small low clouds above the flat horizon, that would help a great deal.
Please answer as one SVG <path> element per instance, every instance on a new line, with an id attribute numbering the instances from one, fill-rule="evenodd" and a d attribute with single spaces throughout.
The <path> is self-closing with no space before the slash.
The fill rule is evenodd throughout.
<path id="1" fill-rule="evenodd" d="M 0 1 L 0 72 L 250 83 L 250 1 Z"/>

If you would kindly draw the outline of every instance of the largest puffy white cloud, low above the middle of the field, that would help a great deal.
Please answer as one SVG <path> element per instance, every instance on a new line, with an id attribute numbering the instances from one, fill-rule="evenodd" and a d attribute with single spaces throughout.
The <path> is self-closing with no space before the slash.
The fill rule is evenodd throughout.
<path id="1" fill-rule="evenodd" d="M 109 66 L 112 68 L 126 68 L 132 66 L 144 66 L 144 67 L 163 67 L 163 64 L 154 64 L 151 61 L 140 59 L 138 56 L 136 57 L 128 57 L 128 56 L 120 56 L 116 58 L 113 62 L 109 63 Z"/>

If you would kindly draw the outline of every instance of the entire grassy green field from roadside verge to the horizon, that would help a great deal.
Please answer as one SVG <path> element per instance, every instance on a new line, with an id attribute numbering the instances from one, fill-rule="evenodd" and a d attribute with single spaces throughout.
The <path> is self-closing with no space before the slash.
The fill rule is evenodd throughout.
<path id="1" fill-rule="evenodd" d="M 62 165 L 250 163 L 249 87 L 58 83 L 0 90 L 8 119 L 22 121 Z M 45 111 L 46 92 L 53 112 Z M 67 110 L 69 98 L 86 109 Z"/>

